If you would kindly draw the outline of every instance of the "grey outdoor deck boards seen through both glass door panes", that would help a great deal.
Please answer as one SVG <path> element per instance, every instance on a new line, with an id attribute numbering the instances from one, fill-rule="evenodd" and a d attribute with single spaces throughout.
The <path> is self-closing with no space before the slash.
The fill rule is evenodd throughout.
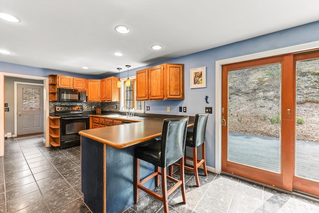
<path id="1" fill-rule="evenodd" d="M 228 160 L 280 172 L 279 138 L 230 133 Z M 319 181 L 319 143 L 297 141 L 296 176 Z"/>

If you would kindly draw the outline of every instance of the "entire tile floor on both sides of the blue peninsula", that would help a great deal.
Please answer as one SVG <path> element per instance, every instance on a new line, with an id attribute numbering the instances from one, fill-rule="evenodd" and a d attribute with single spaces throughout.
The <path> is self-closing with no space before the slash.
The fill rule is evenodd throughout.
<path id="1" fill-rule="evenodd" d="M 88 213 L 81 193 L 80 147 L 45 148 L 42 137 L 5 140 L 0 157 L 0 212 Z M 178 171 L 174 175 L 178 177 Z M 200 176 L 196 187 L 185 171 L 187 204 L 170 195 L 170 213 L 318 213 L 319 203 L 227 175 Z M 155 189 L 159 191 L 160 188 Z M 125 213 L 162 213 L 146 195 Z"/>

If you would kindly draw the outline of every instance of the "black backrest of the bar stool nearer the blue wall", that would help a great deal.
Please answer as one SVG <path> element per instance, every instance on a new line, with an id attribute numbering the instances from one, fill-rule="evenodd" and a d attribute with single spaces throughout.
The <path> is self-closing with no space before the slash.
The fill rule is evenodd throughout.
<path id="1" fill-rule="evenodd" d="M 193 147 L 198 147 L 205 141 L 208 113 L 196 114 L 193 129 Z"/>

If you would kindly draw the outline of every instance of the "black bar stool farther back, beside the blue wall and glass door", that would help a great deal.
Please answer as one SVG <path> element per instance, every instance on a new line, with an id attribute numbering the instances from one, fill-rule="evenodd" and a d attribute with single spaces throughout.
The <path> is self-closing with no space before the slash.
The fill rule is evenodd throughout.
<path id="1" fill-rule="evenodd" d="M 198 168 L 203 165 L 204 175 L 207 176 L 206 155 L 205 155 L 205 134 L 208 114 L 196 114 L 194 126 L 187 129 L 186 146 L 193 148 L 193 157 L 185 155 L 186 159 L 193 161 L 193 168 L 184 166 L 186 170 L 193 171 L 195 175 L 196 185 L 199 187 Z M 197 147 L 201 145 L 202 159 L 197 159 Z M 179 166 L 174 163 L 173 165 Z M 173 173 L 173 165 L 170 166 L 171 175 Z"/>

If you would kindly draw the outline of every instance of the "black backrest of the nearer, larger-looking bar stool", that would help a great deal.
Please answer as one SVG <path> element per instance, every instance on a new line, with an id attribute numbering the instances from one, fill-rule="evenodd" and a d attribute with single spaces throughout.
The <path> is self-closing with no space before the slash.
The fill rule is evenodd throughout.
<path id="1" fill-rule="evenodd" d="M 164 119 L 161 134 L 160 161 L 168 167 L 184 155 L 188 116 Z"/>

